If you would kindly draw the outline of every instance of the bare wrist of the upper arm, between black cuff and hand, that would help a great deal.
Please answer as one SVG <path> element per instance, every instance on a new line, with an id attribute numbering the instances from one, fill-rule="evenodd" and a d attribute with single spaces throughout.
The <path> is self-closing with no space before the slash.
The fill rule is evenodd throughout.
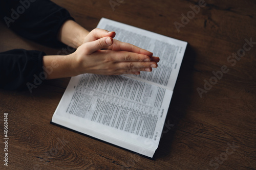
<path id="1" fill-rule="evenodd" d="M 78 48 L 84 43 L 84 38 L 89 31 L 73 20 L 67 20 L 59 30 L 58 40 L 73 48 Z"/>

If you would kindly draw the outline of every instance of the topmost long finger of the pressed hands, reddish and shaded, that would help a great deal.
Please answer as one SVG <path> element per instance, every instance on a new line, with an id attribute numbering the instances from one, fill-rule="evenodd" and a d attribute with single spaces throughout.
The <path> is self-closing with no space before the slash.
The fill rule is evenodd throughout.
<path id="1" fill-rule="evenodd" d="M 153 56 L 153 53 L 146 51 L 138 46 L 135 46 L 133 44 L 130 43 L 126 43 L 126 42 L 121 42 L 118 40 L 115 40 L 116 44 L 118 45 L 119 51 L 126 51 L 126 52 L 133 52 L 133 53 L 138 53 L 138 54 L 144 54 L 147 55 L 149 57 Z M 115 50 L 115 49 L 113 49 Z"/>

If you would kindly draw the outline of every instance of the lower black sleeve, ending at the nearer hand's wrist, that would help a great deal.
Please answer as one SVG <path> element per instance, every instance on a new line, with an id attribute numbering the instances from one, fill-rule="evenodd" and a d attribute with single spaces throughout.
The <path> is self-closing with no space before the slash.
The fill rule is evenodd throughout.
<path id="1" fill-rule="evenodd" d="M 0 88 L 16 90 L 28 88 L 30 92 L 45 80 L 39 51 L 15 49 L 0 53 Z"/>

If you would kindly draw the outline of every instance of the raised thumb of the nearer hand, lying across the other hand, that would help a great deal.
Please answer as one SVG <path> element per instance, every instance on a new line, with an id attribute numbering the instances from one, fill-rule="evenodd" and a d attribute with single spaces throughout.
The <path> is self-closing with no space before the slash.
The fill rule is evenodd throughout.
<path id="1" fill-rule="evenodd" d="M 108 46 L 113 44 L 113 38 L 112 37 L 103 37 L 95 41 L 87 42 L 87 55 L 90 55 L 97 50 L 105 49 Z"/>

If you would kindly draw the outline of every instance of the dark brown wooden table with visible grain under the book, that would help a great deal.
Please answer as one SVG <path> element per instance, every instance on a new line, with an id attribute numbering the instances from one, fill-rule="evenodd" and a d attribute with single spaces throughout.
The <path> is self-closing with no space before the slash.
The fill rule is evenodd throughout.
<path id="1" fill-rule="evenodd" d="M 50 124 L 70 78 L 46 81 L 32 93 L 2 89 L 0 153 L 3 159 L 7 112 L 9 162 L 0 169 L 256 169 L 256 44 L 244 46 L 256 41 L 255 1 L 208 0 L 199 8 L 194 0 L 54 2 L 88 30 L 105 17 L 188 42 L 166 117 L 172 125 L 152 160 Z M 61 50 L 20 38 L 4 23 L 0 30 L 1 52 Z M 214 85 L 204 88 L 205 82 Z"/>

